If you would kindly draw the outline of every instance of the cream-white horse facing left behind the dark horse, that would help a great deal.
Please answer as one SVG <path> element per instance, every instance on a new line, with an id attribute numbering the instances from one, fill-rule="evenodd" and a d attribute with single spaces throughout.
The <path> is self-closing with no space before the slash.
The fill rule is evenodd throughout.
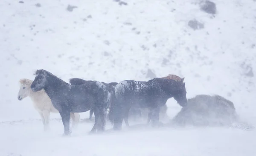
<path id="1" fill-rule="evenodd" d="M 26 78 L 20 79 L 20 90 L 17 98 L 20 101 L 28 96 L 31 98 L 35 109 L 43 121 L 44 131 L 47 131 L 49 129 L 50 112 L 58 113 L 58 110 L 53 107 L 52 101 L 44 89 L 38 92 L 33 92 L 30 89 L 32 82 L 32 80 Z M 70 118 L 73 120 L 72 127 L 77 127 L 80 119 L 79 113 L 70 113 Z"/>

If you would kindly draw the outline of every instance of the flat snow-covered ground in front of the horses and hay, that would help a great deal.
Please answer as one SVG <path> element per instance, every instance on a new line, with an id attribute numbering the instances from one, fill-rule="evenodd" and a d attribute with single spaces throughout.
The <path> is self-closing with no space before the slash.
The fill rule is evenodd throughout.
<path id="1" fill-rule="evenodd" d="M 109 127 L 109 126 L 108 126 Z M 60 122 L 49 133 L 38 123 L 1 125 L 1 156 L 255 156 L 256 132 L 225 128 L 135 128 L 88 135 L 80 124 L 62 137 Z"/>

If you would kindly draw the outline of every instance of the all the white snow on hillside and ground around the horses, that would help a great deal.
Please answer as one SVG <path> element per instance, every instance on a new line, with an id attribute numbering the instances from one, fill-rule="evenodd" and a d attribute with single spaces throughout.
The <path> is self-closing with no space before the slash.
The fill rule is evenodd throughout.
<path id="1" fill-rule="evenodd" d="M 0 1 L 0 156 L 255 156 L 256 130 L 124 127 L 88 135 L 93 123 L 81 122 L 62 137 L 61 121 L 51 121 L 51 131 L 43 132 L 31 100 L 17 100 L 19 79 L 33 80 L 36 69 L 64 81 L 180 75 L 187 98 L 221 95 L 256 125 L 255 0 L 212 0 L 214 16 L 199 0 L 116 1 Z M 204 28 L 193 30 L 190 20 Z M 172 118 L 180 106 L 173 99 L 167 105 Z"/>

